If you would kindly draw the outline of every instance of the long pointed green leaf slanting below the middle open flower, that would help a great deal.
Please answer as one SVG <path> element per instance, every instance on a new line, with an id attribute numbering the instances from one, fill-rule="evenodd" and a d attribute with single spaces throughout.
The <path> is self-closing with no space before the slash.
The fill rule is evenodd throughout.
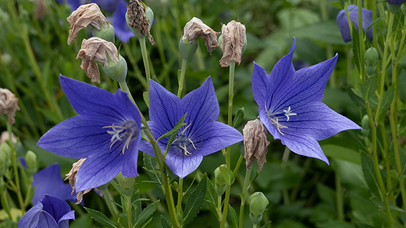
<path id="1" fill-rule="evenodd" d="M 201 205 L 205 202 L 207 192 L 207 174 L 201 179 L 200 183 L 190 194 L 186 203 L 185 210 L 183 211 L 182 227 L 189 224 L 200 210 Z"/>

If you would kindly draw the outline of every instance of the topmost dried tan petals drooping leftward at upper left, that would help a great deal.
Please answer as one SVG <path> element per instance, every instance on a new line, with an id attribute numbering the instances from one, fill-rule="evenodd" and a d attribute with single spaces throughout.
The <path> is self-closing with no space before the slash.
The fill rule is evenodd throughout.
<path id="1" fill-rule="evenodd" d="M 105 29 L 109 28 L 109 21 L 95 3 L 81 5 L 66 20 L 71 24 L 69 36 L 67 37 L 67 44 L 69 45 L 76 39 L 79 30 L 89 25 L 93 26 L 97 31 L 101 31 L 100 24 Z"/>

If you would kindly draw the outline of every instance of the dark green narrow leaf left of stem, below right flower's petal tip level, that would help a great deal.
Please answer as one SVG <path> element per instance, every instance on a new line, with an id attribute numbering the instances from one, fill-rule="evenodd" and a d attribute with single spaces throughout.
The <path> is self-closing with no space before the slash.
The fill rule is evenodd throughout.
<path id="1" fill-rule="evenodd" d="M 381 194 L 378 188 L 378 180 L 375 174 L 374 162 L 371 156 L 364 152 L 361 153 L 361 167 L 362 174 L 364 175 L 369 191 L 373 196 L 381 198 Z"/>

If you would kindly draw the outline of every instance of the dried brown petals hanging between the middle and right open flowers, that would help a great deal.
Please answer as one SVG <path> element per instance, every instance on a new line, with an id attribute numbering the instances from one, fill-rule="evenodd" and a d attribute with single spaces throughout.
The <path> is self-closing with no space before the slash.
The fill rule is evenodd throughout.
<path id="1" fill-rule="evenodd" d="M 243 129 L 244 134 L 244 148 L 245 148 L 245 162 L 247 171 L 250 169 L 255 158 L 258 160 L 259 168 L 262 170 L 263 164 L 266 162 L 266 153 L 269 145 L 266 139 L 267 130 L 265 126 L 258 119 L 248 121 Z"/>

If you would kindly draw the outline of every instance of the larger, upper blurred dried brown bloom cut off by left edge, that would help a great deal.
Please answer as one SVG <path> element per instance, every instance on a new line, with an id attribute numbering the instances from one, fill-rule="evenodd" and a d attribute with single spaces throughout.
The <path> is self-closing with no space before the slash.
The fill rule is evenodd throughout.
<path id="1" fill-rule="evenodd" d="M 6 114 L 9 118 L 9 124 L 13 125 L 16 120 L 16 111 L 20 110 L 18 107 L 18 98 L 8 89 L 0 88 L 0 115 Z"/>

